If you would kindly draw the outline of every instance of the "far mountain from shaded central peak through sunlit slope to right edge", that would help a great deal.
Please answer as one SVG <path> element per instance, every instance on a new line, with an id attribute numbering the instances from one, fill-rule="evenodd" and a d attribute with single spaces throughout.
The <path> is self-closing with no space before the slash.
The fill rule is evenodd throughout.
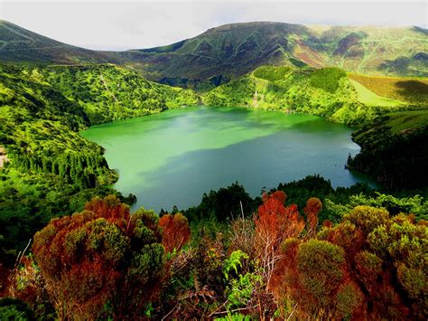
<path id="1" fill-rule="evenodd" d="M 300 24 L 227 24 L 170 46 L 129 52 L 153 80 L 218 84 L 274 64 L 337 66 L 368 74 L 428 75 L 428 37 L 418 28 L 331 27 Z"/>

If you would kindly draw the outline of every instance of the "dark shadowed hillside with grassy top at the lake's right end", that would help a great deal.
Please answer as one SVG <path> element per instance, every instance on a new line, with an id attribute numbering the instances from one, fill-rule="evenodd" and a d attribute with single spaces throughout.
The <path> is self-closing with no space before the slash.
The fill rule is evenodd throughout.
<path id="1" fill-rule="evenodd" d="M 366 172 L 390 189 L 426 186 L 428 110 L 387 114 L 352 135 L 361 146 L 350 168 Z"/>

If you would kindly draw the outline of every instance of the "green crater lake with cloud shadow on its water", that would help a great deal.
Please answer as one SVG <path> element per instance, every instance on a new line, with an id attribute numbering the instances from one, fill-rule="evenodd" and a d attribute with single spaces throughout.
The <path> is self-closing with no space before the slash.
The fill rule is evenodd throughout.
<path id="1" fill-rule="evenodd" d="M 191 108 L 90 127 L 82 136 L 106 148 L 108 165 L 120 176 L 114 187 L 137 196 L 134 209 L 170 211 L 236 181 L 252 196 L 313 174 L 334 187 L 372 184 L 344 168 L 359 151 L 351 132 L 315 116 Z"/>

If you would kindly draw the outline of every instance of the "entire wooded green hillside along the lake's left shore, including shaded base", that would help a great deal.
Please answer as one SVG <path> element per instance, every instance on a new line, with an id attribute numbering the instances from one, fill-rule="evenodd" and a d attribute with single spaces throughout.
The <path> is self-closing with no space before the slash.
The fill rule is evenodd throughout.
<path id="1" fill-rule="evenodd" d="M 112 65 L 0 66 L 0 149 L 8 158 L 0 168 L 0 235 L 6 245 L 22 246 L 15 241 L 28 241 L 51 217 L 80 210 L 94 194 L 116 194 L 107 187 L 117 175 L 103 148 L 80 137 L 80 129 L 197 102 L 189 90 Z"/>

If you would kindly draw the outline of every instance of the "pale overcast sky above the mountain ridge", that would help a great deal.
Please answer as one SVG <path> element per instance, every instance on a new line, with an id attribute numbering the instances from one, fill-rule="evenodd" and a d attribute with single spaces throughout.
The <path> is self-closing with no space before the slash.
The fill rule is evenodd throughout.
<path id="1" fill-rule="evenodd" d="M 0 17 L 60 42 L 125 50 L 178 42 L 220 24 L 418 25 L 427 1 L 38 1 L 0 0 Z"/>

